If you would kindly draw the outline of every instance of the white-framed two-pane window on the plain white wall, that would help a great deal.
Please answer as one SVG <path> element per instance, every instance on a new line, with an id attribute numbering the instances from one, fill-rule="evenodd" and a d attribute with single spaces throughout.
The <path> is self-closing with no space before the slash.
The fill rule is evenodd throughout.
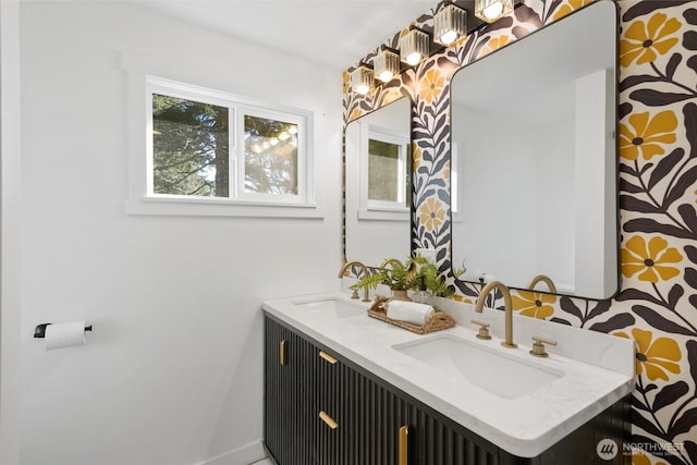
<path id="1" fill-rule="evenodd" d="M 147 77 L 145 199 L 310 206 L 311 113 Z"/>

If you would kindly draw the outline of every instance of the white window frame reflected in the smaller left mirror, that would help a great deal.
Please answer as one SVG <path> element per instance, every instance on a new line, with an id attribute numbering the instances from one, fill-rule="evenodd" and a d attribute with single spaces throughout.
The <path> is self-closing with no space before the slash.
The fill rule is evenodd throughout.
<path id="1" fill-rule="evenodd" d="M 399 157 L 399 200 L 371 200 L 368 198 L 368 181 L 369 181 L 369 158 L 368 150 L 369 140 L 380 140 L 388 144 L 394 144 L 400 147 Z M 358 218 L 362 220 L 391 220 L 391 221 L 411 221 L 411 207 L 406 205 L 406 186 L 404 179 L 411 170 L 406 166 L 408 163 L 409 137 L 399 132 L 377 126 L 375 124 L 360 125 L 360 186 L 359 186 L 359 209 Z"/>

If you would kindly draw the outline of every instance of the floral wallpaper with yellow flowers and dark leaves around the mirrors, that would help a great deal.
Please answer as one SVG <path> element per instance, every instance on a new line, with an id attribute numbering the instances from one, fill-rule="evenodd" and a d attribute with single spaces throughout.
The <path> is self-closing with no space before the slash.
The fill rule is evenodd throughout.
<path id="1" fill-rule="evenodd" d="M 478 285 L 458 282 L 450 271 L 450 79 L 460 68 L 591 1 L 524 0 L 509 16 L 366 96 L 350 90 L 351 69 L 344 73 L 345 124 L 402 95 L 413 101 L 412 246 L 437 250 L 455 298 L 472 299 Z M 607 301 L 519 291 L 514 307 L 634 339 L 632 461 L 697 465 L 697 1 L 615 3 L 621 289 Z M 430 26 L 438 8 L 414 24 Z M 399 36 L 386 45 L 395 47 Z M 496 306 L 497 296 L 490 299 Z"/>

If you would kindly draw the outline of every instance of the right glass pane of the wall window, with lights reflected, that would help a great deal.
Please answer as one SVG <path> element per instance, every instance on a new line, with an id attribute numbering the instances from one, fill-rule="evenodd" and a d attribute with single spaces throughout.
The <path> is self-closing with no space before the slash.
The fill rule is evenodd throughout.
<path id="1" fill-rule="evenodd" d="M 244 117 L 244 192 L 297 195 L 297 124 Z"/>

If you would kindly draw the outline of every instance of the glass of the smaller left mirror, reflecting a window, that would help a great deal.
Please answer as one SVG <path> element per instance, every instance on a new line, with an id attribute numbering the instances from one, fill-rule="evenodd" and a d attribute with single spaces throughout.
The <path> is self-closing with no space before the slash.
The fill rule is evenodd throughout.
<path id="1" fill-rule="evenodd" d="M 346 126 L 346 259 L 378 266 L 411 250 L 411 100 Z"/>

